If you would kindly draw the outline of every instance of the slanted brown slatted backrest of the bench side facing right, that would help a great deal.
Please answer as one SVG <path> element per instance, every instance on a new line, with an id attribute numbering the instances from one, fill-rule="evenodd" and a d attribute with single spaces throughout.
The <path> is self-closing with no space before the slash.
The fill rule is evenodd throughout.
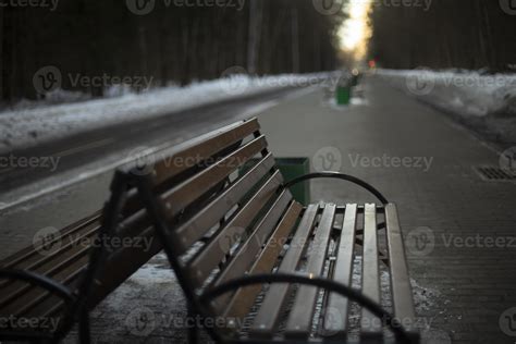
<path id="1" fill-rule="evenodd" d="M 282 175 L 259 130 L 256 119 L 239 122 L 181 150 L 142 157 L 136 167 L 123 172 L 140 187 L 138 181 L 146 181 L 144 187 L 155 198 L 156 209 L 149 211 L 147 204 L 147 211 L 138 210 L 145 198 L 142 189 L 128 189 L 119 226 L 148 224 L 151 235 L 149 213 L 157 211 L 167 226 L 164 239 L 182 262 L 174 268 L 181 270 L 176 273 L 184 288 L 244 274 L 295 202 L 283 188 Z"/>

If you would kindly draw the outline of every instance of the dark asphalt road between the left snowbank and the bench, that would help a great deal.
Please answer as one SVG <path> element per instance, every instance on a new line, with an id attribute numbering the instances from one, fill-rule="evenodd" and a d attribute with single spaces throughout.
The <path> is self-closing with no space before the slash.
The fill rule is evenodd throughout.
<path id="1" fill-rule="evenodd" d="M 105 127 L 3 156 L 0 212 L 127 162 L 135 149 L 176 145 L 255 115 L 299 88 L 284 88 L 201 106 L 152 120 Z"/>

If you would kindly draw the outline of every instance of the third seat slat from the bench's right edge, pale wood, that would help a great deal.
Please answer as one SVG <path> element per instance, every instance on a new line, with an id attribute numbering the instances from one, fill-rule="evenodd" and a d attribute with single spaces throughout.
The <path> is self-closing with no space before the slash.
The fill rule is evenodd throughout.
<path id="1" fill-rule="evenodd" d="M 344 285 L 352 285 L 355 233 L 357 226 L 357 205 L 346 205 L 341 238 L 333 269 L 333 280 Z M 330 294 L 323 321 L 323 333 L 334 337 L 347 334 L 349 300 L 339 294 Z"/>

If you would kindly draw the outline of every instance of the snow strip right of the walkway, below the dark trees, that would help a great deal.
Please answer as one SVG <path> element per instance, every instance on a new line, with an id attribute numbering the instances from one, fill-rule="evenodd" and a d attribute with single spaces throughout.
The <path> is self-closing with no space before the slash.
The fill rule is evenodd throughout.
<path id="1" fill-rule="evenodd" d="M 378 70 L 376 75 L 497 144 L 516 144 L 516 74 L 417 69 Z"/>

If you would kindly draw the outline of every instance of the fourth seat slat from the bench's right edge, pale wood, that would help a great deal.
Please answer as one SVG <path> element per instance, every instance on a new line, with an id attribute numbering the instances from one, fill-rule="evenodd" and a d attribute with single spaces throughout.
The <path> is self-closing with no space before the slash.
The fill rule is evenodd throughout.
<path id="1" fill-rule="evenodd" d="M 309 275 L 322 275 L 334 220 L 335 205 L 328 204 L 324 207 L 319 226 L 316 230 L 316 236 L 310 247 L 306 269 L 306 273 Z M 317 294 L 318 288 L 315 286 L 299 286 L 286 323 L 286 336 L 307 337 L 310 334 Z"/>

